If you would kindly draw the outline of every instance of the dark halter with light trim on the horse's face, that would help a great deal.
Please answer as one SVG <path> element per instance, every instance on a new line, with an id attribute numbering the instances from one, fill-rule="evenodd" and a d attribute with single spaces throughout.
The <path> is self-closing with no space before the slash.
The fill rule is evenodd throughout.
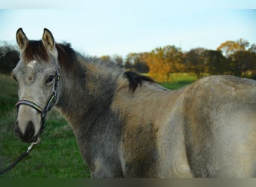
<path id="1" fill-rule="evenodd" d="M 58 82 L 60 81 L 60 66 L 57 66 L 57 71 L 55 72 L 55 85 L 54 90 L 52 92 L 52 96 L 49 98 L 46 106 L 44 108 L 40 107 L 40 105 L 37 105 L 35 102 L 29 101 L 27 99 L 20 99 L 19 102 L 16 103 L 17 111 L 19 111 L 19 105 L 28 105 L 35 110 L 37 110 L 41 114 L 41 123 L 40 123 L 40 132 L 42 133 L 44 129 L 46 129 L 45 119 L 46 114 L 48 111 L 52 109 L 52 107 L 55 105 L 55 102 L 57 100 L 58 95 Z"/>

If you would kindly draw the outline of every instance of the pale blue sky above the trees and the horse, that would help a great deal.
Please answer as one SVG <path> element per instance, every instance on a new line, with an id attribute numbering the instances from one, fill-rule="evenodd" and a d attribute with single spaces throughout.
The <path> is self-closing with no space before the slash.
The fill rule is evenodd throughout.
<path id="1" fill-rule="evenodd" d="M 255 8 L 255 0 L 0 0 L 0 40 L 16 43 L 18 28 L 40 40 L 48 28 L 56 42 L 93 56 L 216 49 L 226 40 L 256 43 Z"/>

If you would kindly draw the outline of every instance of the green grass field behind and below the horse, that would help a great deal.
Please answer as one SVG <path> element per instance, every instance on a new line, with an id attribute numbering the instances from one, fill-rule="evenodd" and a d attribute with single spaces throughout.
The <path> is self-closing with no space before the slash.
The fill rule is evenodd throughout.
<path id="1" fill-rule="evenodd" d="M 185 78 L 184 78 L 185 77 Z M 177 89 L 194 79 L 180 76 L 165 88 Z M 10 165 L 29 144 L 19 141 L 14 134 L 15 103 L 18 100 L 16 83 L 10 76 L 0 74 L 0 170 Z M 0 178 L 85 178 L 90 171 L 83 162 L 70 125 L 58 114 L 50 111 L 41 142 L 30 155 Z"/>

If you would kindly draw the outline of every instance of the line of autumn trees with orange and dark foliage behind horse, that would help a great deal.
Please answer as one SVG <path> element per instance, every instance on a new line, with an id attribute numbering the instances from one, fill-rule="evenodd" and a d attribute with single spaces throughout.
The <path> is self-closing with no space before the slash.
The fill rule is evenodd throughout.
<path id="1" fill-rule="evenodd" d="M 19 61 L 19 52 L 16 46 L 0 44 L 0 73 L 10 73 Z M 126 70 L 148 73 L 159 82 L 170 82 L 171 73 L 195 73 L 198 79 L 220 74 L 256 79 L 256 45 L 243 39 L 225 41 L 216 50 L 195 48 L 182 52 L 170 45 L 150 52 L 131 52 L 126 58 L 119 55 L 100 58 Z"/>

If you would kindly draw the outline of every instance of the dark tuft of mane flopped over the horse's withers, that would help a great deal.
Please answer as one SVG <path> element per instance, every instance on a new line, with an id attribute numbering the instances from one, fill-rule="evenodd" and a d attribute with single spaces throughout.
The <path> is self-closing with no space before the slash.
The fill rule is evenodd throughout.
<path id="1" fill-rule="evenodd" d="M 132 90 L 132 92 L 134 92 L 138 85 L 141 85 L 143 81 L 154 82 L 150 77 L 141 76 L 132 71 L 127 71 L 124 73 L 124 75 L 127 76 L 127 79 L 129 80 L 129 90 Z"/>

